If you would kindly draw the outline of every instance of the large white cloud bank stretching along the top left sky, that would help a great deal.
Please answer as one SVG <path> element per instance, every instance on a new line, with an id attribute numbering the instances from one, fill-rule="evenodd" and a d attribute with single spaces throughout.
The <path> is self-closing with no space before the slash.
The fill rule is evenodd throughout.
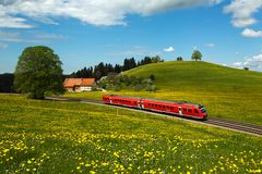
<path id="1" fill-rule="evenodd" d="M 151 15 L 168 10 L 217 4 L 222 0 L 1 0 L 0 27 L 31 28 L 31 20 L 58 24 L 73 17 L 92 25 L 127 25 L 127 14 Z M 17 17 L 20 15 L 20 17 Z M 25 17 L 21 17 L 26 16 Z"/>

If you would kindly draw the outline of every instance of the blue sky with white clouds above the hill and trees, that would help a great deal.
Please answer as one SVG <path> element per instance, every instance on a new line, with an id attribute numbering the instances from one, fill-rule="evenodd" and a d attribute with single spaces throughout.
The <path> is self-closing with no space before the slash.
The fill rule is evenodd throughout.
<path id="1" fill-rule="evenodd" d="M 160 55 L 262 71 L 262 0 L 0 0 L 0 73 L 45 45 L 66 74 Z"/>

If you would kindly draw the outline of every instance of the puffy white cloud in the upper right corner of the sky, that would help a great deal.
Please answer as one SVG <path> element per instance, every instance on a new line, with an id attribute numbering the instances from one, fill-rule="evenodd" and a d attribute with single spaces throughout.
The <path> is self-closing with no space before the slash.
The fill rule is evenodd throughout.
<path id="1" fill-rule="evenodd" d="M 225 7 L 225 13 L 233 13 L 233 25 L 245 27 L 255 24 L 258 21 L 252 16 L 262 9 L 262 0 L 233 0 Z"/>

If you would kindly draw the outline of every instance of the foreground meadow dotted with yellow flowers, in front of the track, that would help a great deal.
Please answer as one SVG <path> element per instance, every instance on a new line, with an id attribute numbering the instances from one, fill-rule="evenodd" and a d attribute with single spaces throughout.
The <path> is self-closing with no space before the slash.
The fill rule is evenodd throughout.
<path id="1" fill-rule="evenodd" d="M 0 173 L 261 173 L 261 137 L 0 95 Z"/>

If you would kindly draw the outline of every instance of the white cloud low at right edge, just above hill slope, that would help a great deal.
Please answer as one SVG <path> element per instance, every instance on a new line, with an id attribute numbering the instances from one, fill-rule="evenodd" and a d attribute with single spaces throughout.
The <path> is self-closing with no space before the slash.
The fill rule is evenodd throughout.
<path id="1" fill-rule="evenodd" d="M 238 69 L 249 67 L 250 70 L 262 72 L 262 53 L 246 58 L 243 62 L 236 62 L 233 66 Z"/>

